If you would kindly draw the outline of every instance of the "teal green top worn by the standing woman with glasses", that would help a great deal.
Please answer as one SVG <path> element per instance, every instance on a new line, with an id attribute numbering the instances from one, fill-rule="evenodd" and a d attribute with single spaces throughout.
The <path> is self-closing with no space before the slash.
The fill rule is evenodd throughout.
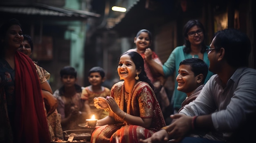
<path id="1" fill-rule="evenodd" d="M 178 83 L 176 81 L 176 76 L 178 75 L 178 70 L 180 66 L 180 62 L 183 61 L 184 59 L 189 59 L 189 58 L 198 58 L 198 55 L 191 55 L 190 53 L 184 53 L 183 48 L 185 46 L 178 46 L 176 47 L 171 55 L 168 57 L 167 61 L 163 65 L 163 71 L 164 71 L 164 76 L 168 77 L 173 74 L 175 71 L 175 87 L 173 91 L 173 108 L 179 110 L 181 108 L 181 103 L 185 100 L 186 98 L 186 93 L 181 92 L 177 90 Z M 209 48 L 209 46 L 208 46 Z M 209 59 L 206 51 L 204 52 L 204 62 L 207 64 L 209 67 Z M 213 75 L 212 72 L 208 71 L 207 77 L 204 81 L 204 84 L 210 79 L 210 77 Z"/>

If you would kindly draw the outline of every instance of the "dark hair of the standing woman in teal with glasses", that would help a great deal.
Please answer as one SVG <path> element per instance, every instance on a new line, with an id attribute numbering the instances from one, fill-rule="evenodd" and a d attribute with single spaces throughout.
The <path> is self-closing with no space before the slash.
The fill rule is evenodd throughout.
<path id="1" fill-rule="evenodd" d="M 183 36 L 185 37 L 185 48 L 183 49 L 184 53 L 191 52 L 191 44 L 189 40 L 186 40 L 186 37 L 188 37 L 188 32 L 193 26 L 198 26 L 200 29 L 202 29 L 204 33 L 204 40 L 206 38 L 205 29 L 201 22 L 199 22 L 198 20 L 189 20 L 188 22 L 186 22 L 186 24 L 183 27 Z M 202 49 L 200 51 L 201 53 L 204 53 L 205 50 L 207 49 L 207 46 L 205 45 L 204 40 L 202 41 Z"/>

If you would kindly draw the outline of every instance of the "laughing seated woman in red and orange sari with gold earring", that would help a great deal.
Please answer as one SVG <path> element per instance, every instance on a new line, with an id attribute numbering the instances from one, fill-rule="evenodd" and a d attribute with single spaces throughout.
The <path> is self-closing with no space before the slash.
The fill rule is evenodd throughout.
<path id="1" fill-rule="evenodd" d="M 140 138 L 146 139 L 166 125 L 141 55 L 122 54 L 117 71 L 124 81 L 111 88 L 107 99 L 94 99 L 95 106 L 106 106 L 107 102 L 110 113 L 97 121 L 91 143 L 139 143 Z"/>

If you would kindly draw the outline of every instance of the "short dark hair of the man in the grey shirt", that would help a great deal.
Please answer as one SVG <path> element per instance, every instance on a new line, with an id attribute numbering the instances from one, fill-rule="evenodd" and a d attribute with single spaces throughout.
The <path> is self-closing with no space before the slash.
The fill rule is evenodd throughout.
<path id="1" fill-rule="evenodd" d="M 224 58 L 230 66 L 239 68 L 249 65 L 249 55 L 252 47 L 245 33 L 237 29 L 217 31 L 213 45 L 216 52 L 220 51 L 220 48 L 225 49 Z"/>

